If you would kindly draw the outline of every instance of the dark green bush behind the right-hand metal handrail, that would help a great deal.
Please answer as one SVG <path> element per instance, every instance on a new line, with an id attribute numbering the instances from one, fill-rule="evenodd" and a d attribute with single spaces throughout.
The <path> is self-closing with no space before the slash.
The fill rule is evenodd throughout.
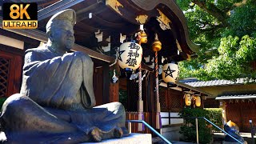
<path id="1" fill-rule="evenodd" d="M 206 117 L 207 111 L 203 109 L 184 108 L 179 115 L 181 117 Z M 184 135 L 186 142 L 196 142 L 196 127 L 194 118 L 186 118 L 186 125 L 181 126 L 180 133 Z M 198 119 L 198 135 L 200 143 L 209 143 L 212 140 L 211 130 L 203 119 Z"/>

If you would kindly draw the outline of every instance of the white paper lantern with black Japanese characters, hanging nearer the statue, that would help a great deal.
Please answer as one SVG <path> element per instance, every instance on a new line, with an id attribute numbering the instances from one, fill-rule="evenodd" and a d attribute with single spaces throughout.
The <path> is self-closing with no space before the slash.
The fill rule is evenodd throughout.
<path id="1" fill-rule="evenodd" d="M 118 51 L 118 64 L 122 69 L 138 69 L 142 62 L 142 46 L 135 42 L 124 42 Z"/>

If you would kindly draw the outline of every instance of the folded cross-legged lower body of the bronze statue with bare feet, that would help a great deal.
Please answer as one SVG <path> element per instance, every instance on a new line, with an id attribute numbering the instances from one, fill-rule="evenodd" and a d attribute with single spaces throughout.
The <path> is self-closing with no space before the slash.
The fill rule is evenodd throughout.
<path id="1" fill-rule="evenodd" d="M 39 106 L 22 94 L 2 106 L 2 130 L 8 142 L 100 142 L 127 134 L 124 108 L 112 102 L 92 109 L 58 110 Z"/>

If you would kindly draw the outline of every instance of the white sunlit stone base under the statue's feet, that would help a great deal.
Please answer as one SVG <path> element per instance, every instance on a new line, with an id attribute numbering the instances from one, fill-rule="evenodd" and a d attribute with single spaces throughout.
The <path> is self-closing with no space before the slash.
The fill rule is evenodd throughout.
<path id="1" fill-rule="evenodd" d="M 90 144 L 94 142 L 83 142 L 82 144 Z M 128 137 L 123 137 L 123 138 L 115 138 L 115 139 L 106 139 L 103 140 L 102 142 L 97 142 L 99 143 L 104 143 L 104 144 L 127 144 L 127 143 L 139 143 L 139 144 L 151 144 L 152 143 L 152 136 L 151 134 L 130 134 Z"/>

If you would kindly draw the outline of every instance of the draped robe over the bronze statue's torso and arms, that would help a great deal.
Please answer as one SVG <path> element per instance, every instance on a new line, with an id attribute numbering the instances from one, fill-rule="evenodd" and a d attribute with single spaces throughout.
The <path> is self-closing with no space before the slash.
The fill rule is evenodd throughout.
<path id="1" fill-rule="evenodd" d="M 94 63 L 82 52 L 63 56 L 48 49 L 26 51 L 21 94 L 41 106 L 77 110 L 95 106 Z"/>

